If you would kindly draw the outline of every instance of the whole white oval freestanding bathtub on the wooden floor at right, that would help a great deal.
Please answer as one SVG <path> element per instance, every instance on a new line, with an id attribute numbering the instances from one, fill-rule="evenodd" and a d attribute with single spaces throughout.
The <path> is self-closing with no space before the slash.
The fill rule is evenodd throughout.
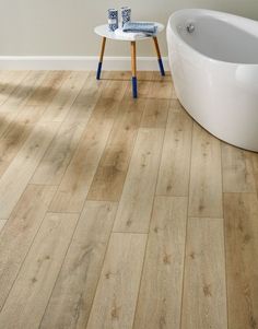
<path id="1" fill-rule="evenodd" d="M 176 94 L 203 128 L 258 151 L 258 22 L 189 9 L 167 25 Z"/>

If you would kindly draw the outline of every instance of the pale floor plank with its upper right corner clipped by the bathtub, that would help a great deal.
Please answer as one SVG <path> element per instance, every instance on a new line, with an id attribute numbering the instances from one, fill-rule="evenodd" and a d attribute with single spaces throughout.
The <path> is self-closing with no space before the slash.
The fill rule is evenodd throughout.
<path id="1" fill-rule="evenodd" d="M 162 152 L 156 193 L 188 196 L 192 120 L 180 107 L 171 104 Z"/>

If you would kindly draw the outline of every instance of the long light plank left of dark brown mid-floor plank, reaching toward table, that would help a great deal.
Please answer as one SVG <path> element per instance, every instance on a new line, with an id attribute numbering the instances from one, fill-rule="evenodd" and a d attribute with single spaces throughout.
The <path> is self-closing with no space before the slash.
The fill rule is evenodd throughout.
<path id="1" fill-rule="evenodd" d="M 80 212 L 83 208 L 125 93 L 122 87 L 117 91 L 117 81 L 110 82 L 108 90 L 109 95 L 105 92 L 99 98 L 66 171 L 50 207 L 54 212 Z"/>

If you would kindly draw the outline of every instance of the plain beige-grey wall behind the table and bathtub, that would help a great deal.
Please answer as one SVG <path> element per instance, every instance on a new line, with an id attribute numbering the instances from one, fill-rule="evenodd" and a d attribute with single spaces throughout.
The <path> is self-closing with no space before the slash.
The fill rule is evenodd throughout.
<path id="1" fill-rule="evenodd" d="M 134 20 L 167 22 L 183 8 L 222 10 L 258 20 L 258 0 L 0 0 L 0 56 L 95 56 L 99 39 L 95 25 L 106 21 L 108 8 L 130 5 Z M 161 37 L 166 54 L 165 34 Z M 148 42 L 141 56 L 152 56 Z M 107 55 L 127 56 L 128 45 L 109 43 Z"/>

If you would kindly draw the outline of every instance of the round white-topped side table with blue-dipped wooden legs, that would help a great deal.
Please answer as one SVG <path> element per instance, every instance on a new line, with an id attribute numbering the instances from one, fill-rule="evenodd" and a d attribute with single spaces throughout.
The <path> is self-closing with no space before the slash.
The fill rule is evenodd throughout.
<path id="1" fill-rule="evenodd" d="M 116 32 L 109 31 L 107 24 L 95 27 L 94 32 L 97 35 L 102 36 L 102 50 L 101 50 L 99 62 L 98 62 L 98 67 L 97 67 L 96 79 L 97 80 L 101 79 L 106 39 L 131 43 L 131 73 L 132 73 L 132 96 L 133 96 L 133 98 L 137 98 L 137 96 L 138 96 L 138 90 L 137 90 L 137 40 L 143 40 L 143 39 L 148 39 L 148 38 L 153 39 L 155 50 L 156 50 L 156 56 L 157 56 L 157 62 L 160 66 L 160 71 L 161 71 L 161 74 L 164 77 L 165 71 L 164 71 L 164 67 L 163 67 L 163 61 L 162 61 L 161 50 L 159 47 L 157 37 L 156 37 L 156 35 L 164 30 L 164 25 L 161 23 L 155 23 L 155 24 L 157 26 L 157 30 L 153 36 L 146 36 L 146 35 L 143 35 L 142 33 L 133 33 L 133 34 L 129 33 L 129 34 L 125 34 L 125 35 L 117 34 Z"/>

